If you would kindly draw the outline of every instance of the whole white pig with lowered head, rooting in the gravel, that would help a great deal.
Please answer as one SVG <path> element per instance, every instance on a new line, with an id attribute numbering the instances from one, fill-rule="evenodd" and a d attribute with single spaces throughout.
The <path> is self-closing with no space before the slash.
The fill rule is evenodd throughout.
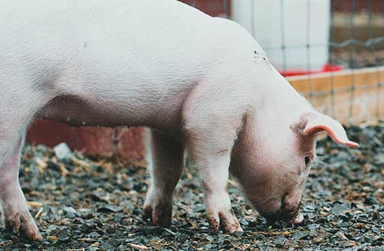
<path id="1" fill-rule="evenodd" d="M 316 133 L 357 146 L 316 112 L 235 22 L 174 0 L 0 1 L 0 203 L 6 226 L 41 238 L 18 182 L 36 118 L 151 129 L 145 218 L 170 225 L 184 152 L 214 229 L 242 231 L 228 173 L 267 218 L 300 222 Z"/>

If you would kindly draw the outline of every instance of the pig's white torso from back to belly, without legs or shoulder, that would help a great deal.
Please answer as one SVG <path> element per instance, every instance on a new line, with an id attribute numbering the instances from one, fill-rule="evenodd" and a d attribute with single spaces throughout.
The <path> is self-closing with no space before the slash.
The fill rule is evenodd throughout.
<path id="1" fill-rule="evenodd" d="M 12 58 L 4 65 L 28 69 L 39 88 L 76 97 L 55 102 L 61 105 L 48 117 L 87 125 L 175 123 L 187 93 L 214 67 L 224 29 L 172 0 L 12 0 L 0 6 L 0 46 L 8 53 L 3 58 Z M 103 111 L 108 119 L 94 121 Z"/>

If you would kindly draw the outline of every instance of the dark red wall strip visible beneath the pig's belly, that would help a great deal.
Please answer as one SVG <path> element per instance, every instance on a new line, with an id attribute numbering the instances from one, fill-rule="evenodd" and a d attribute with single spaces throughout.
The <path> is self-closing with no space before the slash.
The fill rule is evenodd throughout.
<path id="1" fill-rule="evenodd" d="M 135 160 L 144 156 L 143 132 L 143 128 L 75 128 L 40 120 L 29 129 L 27 142 L 50 147 L 66 142 L 88 155 L 119 154 Z"/>

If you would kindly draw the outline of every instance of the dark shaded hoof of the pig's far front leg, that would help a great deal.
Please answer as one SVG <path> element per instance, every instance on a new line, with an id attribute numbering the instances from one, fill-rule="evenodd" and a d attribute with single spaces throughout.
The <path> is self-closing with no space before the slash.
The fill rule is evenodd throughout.
<path id="1" fill-rule="evenodd" d="M 155 226 L 169 227 L 172 220 L 172 202 L 145 203 L 142 218 Z"/>

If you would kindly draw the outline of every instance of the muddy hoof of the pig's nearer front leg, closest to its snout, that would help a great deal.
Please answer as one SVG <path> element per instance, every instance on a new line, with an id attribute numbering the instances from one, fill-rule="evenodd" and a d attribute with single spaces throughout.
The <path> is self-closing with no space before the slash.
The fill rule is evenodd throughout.
<path id="1" fill-rule="evenodd" d="M 243 231 L 232 210 L 219 211 L 219 213 L 208 210 L 208 221 L 214 231 L 219 231 L 219 227 L 229 234 Z"/>

